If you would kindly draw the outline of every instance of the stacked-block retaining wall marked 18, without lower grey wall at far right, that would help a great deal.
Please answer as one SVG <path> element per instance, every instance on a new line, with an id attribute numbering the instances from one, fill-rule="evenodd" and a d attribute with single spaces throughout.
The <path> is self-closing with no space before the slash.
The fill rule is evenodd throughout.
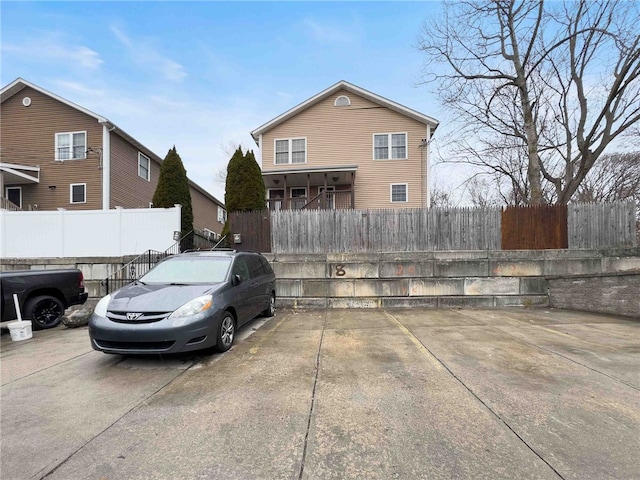
<path id="1" fill-rule="evenodd" d="M 548 306 L 549 276 L 640 270 L 640 249 L 274 254 L 294 308 Z"/>

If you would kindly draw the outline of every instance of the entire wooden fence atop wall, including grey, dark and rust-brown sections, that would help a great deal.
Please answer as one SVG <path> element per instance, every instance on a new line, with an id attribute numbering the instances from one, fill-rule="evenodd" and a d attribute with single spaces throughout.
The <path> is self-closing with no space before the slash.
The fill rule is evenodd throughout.
<path id="1" fill-rule="evenodd" d="M 229 214 L 229 243 L 273 253 L 634 247 L 634 202 Z M 233 234 L 242 243 L 233 243 Z"/>

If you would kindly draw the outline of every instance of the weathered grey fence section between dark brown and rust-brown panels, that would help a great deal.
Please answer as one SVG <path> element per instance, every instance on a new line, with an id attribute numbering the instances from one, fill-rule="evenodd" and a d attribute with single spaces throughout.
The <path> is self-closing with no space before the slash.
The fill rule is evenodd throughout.
<path id="1" fill-rule="evenodd" d="M 281 210 L 271 232 L 273 253 L 493 250 L 500 210 Z"/>

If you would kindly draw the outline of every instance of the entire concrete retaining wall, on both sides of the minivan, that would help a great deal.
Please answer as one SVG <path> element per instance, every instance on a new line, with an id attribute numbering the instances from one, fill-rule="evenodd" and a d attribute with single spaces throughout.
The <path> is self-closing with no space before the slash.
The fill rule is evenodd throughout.
<path id="1" fill-rule="evenodd" d="M 266 256 L 280 307 L 552 306 L 640 316 L 640 248 Z M 2 259 L 0 268 L 79 268 L 97 300 L 100 282 L 133 258 Z"/>

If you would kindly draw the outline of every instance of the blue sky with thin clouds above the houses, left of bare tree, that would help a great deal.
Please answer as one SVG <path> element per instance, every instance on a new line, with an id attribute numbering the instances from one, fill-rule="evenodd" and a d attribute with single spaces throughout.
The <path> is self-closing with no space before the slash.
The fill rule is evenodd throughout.
<path id="1" fill-rule="evenodd" d="M 12 2 L 1 5 L 2 85 L 22 77 L 107 117 L 196 183 L 249 132 L 347 80 L 443 120 L 417 86 L 422 23 L 438 2 Z"/>

